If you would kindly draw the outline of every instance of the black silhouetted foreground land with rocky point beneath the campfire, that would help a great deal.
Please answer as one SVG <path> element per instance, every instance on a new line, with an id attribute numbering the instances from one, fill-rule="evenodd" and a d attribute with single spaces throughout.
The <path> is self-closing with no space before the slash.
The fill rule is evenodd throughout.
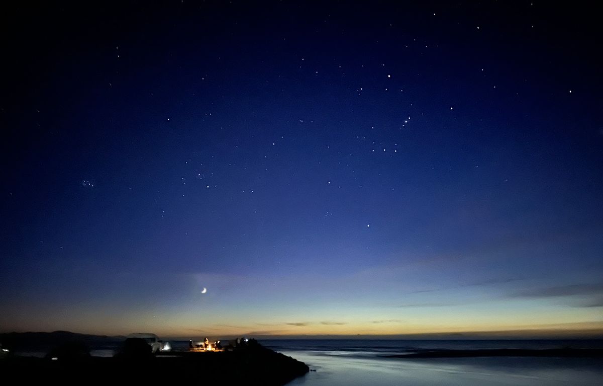
<path id="1" fill-rule="evenodd" d="M 309 368 L 303 362 L 257 344 L 232 352 L 182 352 L 134 358 L 26 358 L 0 360 L 4 379 L 59 384 L 206 383 L 218 385 L 285 385 Z M 107 383 L 106 383 L 107 382 Z"/>

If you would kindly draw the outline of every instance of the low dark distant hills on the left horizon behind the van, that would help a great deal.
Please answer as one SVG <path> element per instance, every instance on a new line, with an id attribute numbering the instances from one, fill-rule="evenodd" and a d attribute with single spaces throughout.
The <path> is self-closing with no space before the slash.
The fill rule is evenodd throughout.
<path id="1" fill-rule="evenodd" d="M 0 333 L 2 347 L 12 350 L 50 349 L 65 343 L 84 343 L 90 348 L 121 344 L 125 336 L 87 335 L 69 331 Z"/>

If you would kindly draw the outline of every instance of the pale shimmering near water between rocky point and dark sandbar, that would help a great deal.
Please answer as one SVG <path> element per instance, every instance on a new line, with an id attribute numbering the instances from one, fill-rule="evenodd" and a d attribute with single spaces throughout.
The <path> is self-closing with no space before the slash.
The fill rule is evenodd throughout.
<path id="1" fill-rule="evenodd" d="M 601 359 L 584 358 L 378 358 L 279 350 L 316 370 L 288 385 L 560 386 L 601 385 Z"/>

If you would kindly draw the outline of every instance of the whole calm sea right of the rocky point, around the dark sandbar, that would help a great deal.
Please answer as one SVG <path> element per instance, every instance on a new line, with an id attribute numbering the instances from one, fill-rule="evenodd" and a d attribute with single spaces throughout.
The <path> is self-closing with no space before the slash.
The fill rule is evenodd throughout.
<path id="1" fill-rule="evenodd" d="M 603 341 L 263 340 L 312 371 L 289 385 L 601 385 L 603 361 L 588 358 L 381 358 L 436 349 L 603 348 Z"/>

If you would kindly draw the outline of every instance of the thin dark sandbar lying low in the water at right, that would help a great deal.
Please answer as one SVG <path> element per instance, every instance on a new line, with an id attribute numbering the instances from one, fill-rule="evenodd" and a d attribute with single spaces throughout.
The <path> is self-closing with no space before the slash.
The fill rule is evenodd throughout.
<path id="1" fill-rule="evenodd" d="M 540 358 L 603 358 L 603 349 L 432 350 L 409 354 L 382 355 L 383 358 L 477 358 L 482 356 L 531 356 Z"/>

